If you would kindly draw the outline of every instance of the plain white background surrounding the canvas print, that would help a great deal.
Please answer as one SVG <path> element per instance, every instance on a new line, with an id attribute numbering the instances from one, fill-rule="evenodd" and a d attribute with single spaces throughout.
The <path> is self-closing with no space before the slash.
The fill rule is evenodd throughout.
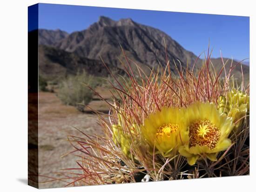
<path id="1" fill-rule="evenodd" d="M 189 13 L 210 13 L 250 16 L 250 82 L 254 82 L 255 70 L 255 10 L 252 0 L 8 0 L 1 1 L 0 29 L 0 83 L 1 83 L 1 191 L 35 191 L 27 186 L 27 6 L 36 3 L 87 5 L 118 8 L 135 8 Z M 64 191 L 251 191 L 255 177 L 256 135 L 253 118 L 255 86 L 250 85 L 250 176 L 221 179 L 192 179 L 108 186 L 46 189 Z"/>

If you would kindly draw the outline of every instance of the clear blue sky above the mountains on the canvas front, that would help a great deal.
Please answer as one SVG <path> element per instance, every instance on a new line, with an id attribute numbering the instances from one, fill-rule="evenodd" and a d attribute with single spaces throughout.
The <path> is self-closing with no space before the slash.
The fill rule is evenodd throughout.
<path id="1" fill-rule="evenodd" d="M 195 55 L 206 51 L 210 41 L 214 58 L 220 57 L 220 50 L 223 57 L 249 58 L 249 17 L 39 4 L 39 28 L 81 31 L 101 15 L 158 28 Z"/>

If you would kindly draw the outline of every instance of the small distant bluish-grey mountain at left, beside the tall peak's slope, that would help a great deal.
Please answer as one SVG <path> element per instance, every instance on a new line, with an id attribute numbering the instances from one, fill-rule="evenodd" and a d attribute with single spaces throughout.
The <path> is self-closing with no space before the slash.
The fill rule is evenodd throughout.
<path id="1" fill-rule="evenodd" d="M 67 32 L 57 30 L 47 30 L 47 29 L 39 29 L 38 30 L 38 43 L 39 45 L 54 45 L 59 42 L 63 38 L 68 36 Z"/>

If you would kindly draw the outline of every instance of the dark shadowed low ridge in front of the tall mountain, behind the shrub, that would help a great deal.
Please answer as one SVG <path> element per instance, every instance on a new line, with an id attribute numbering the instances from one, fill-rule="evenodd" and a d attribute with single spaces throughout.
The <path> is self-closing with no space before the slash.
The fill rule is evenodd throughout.
<path id="1" fill-rule="evenodd" d="M 123 75 L 124 71 L 107 64 L 113 73 Z M 77 56 L 54 47 L 39 45 L 39 74 L 47 80 L 57 80 L 69 74 L 75 75 L 77 71 L 86 70 L 88 74 L 107 77 L 108 71 L 100 60 Z"/>

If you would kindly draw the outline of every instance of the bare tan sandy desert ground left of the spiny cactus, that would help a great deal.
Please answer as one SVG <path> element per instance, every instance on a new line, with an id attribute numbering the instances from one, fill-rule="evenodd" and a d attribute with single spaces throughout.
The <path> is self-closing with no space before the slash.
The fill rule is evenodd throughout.
<path id="1" fill-rule="evenodd" d="M 105 93 L 106 94 L 106 93 Z M 108 110 L 105 102 L 94 100 L 90 106 L 97 110 Z M 89 112 L 89 111 L 88 111 Z M 54 172 L 63 168 L 77 167 L 73 155 L 60 158 L 61 155 L 74 148 L 67 140 L 67 135 L 80 135 L 72 126 L 88 134 L 102 134 L 97 124 L 97 116 L 91 113 L 81 113 L 72 106 L 63 105 L 55 93 L 39 93 L 39 174 L 58 177 Z M 48 180 L 39 177 L 39 182 Z M 40 188 L 62 187 L 60 181 L 40 183 Z"/>

